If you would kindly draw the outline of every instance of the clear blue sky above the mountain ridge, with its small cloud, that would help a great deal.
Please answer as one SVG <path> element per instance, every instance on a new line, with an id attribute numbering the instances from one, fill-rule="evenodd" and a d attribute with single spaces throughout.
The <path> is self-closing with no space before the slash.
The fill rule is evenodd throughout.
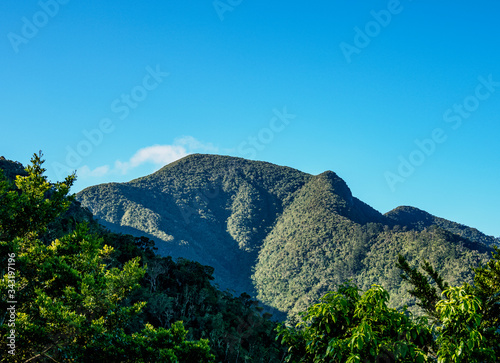
<path id="1" fill-rule="evenodd" d="M 189 153 L 333 170 L 500 236 L 498 1 L 0 5 L 0 155 L 73 191 Z"/>

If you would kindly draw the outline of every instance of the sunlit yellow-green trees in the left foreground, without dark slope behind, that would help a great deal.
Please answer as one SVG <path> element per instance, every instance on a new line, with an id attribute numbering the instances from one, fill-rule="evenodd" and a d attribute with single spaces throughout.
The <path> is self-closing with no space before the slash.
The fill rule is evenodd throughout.
<path id="1" fill-rule="evenodd" d="M 15 336 L 15 354 L 2 360 L 212 361 L 208 341 L 186 341 L 181 323 L 131 331 L 130 323 L 145 306 L 127 303 L 145 274 L 139 258 L 121 268 L 107 266 L 113 248 L 86 225 L 43 241 L 47 226 L 71 203 L 67 194 L 74 176 L 51 184 L 42 164 L 42 155 L 35 154 L 15 185 L 0 175 L 2 345 Z"/>

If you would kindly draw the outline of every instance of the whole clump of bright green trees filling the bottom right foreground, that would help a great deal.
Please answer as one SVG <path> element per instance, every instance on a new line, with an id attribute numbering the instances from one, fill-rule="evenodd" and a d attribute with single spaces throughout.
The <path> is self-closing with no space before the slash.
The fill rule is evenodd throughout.
<path id="1" fill-rule="evenodd" d="M 287 361 L 500 361 L 500 250 L 475 269 L 473 285 L 450 286 L 427 261 L 425 274 L 402 256 L 397 266 L 426 316 L 389 308 L 380 286 L 360 295 L 344 284 L 302 313 L 295 327 L 279 326 Z"/>

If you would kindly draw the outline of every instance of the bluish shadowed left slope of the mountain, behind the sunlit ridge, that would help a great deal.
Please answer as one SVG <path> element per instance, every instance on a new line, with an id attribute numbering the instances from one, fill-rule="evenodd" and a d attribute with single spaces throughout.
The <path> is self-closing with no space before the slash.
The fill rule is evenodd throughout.
<path id="1" fill-rule="evenodd" d="M 262 240 L 309 178 L 269 163 L 191 155 L 129 183 L 87 188 L 77 198 L 111 230 L 145 234 L 159 253 L 211 265 L 221 286 L 252 292 Z"/>

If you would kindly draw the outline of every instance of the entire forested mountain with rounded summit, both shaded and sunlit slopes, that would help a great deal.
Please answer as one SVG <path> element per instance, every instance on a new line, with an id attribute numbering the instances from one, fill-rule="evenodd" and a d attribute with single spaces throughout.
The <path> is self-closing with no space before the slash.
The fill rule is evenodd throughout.
<path id="1" fill-rule="evenodd" d="M 128 183 L 89 187 L 82 206 L 116 232 L 146 235 L 162 255 L 215 268 L 216 282 L 296 313 L 347 279 L 412 304 L 397 254 L 471 281 L 494 239 L 411 207 L 379 213 L 334 172 L 190 155 Z"/>

